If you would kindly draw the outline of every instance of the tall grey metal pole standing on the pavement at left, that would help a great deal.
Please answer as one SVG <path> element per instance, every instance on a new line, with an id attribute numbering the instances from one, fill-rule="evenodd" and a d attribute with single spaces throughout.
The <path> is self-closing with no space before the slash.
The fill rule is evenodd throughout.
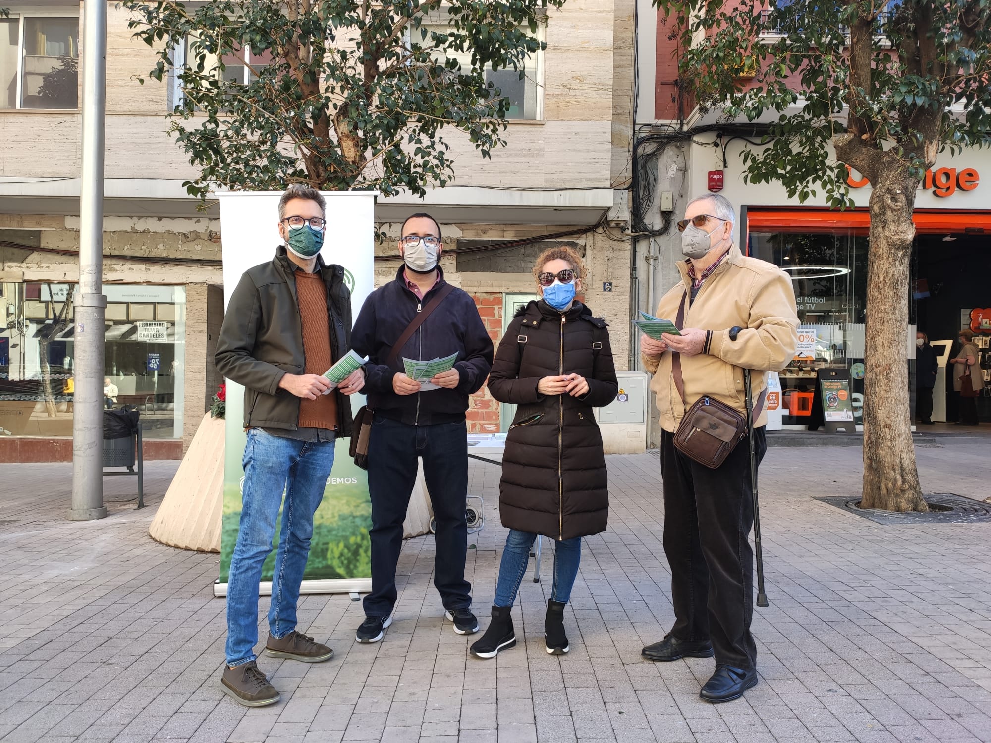
<path id="1" fill-rule="evenodd" d="M 74 521 L 103 518 L 103 129 L 107 2 L 83 0 L 82 178 L 79 189 L 79 296 L 75 301 L 75 414 L 72 418 Z"/>

